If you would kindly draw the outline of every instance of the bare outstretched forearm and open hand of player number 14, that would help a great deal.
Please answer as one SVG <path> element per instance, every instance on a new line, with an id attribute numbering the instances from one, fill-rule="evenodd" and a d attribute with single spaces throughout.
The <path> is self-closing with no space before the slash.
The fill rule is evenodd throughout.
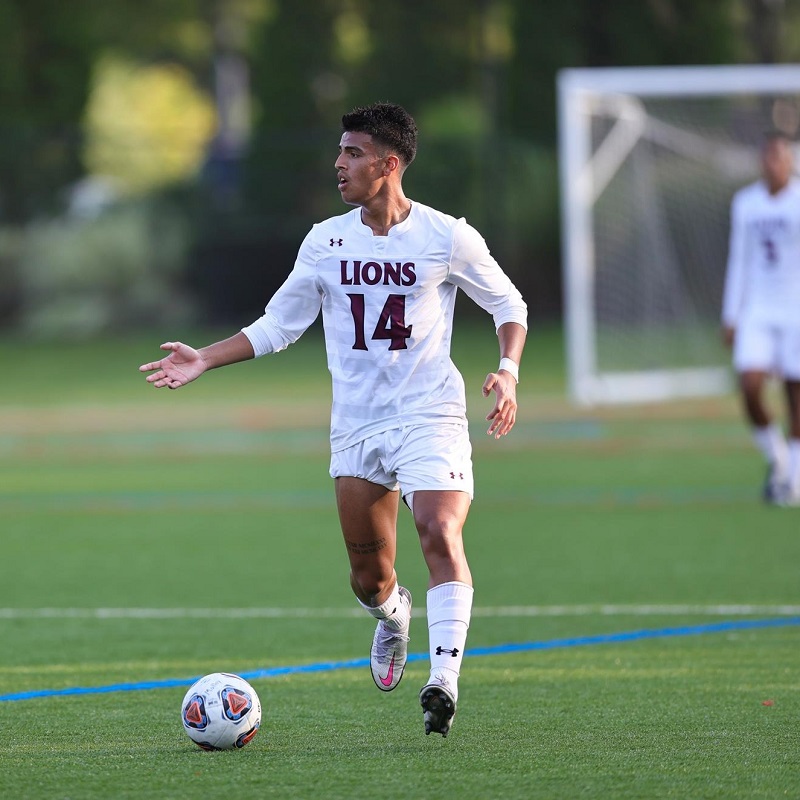
<path id="1" fill-rule="evenodd" d="M 147 376 L 147 382 L 156 389 L 165 386 L 169 389 L 180 389 L 209 369 L 246 361 L 255 356 L 250 340 L 243 333 L 237 333 L 200 350 L 183 342 L 165 342 L 161 349 L 168 350 L 169 355 L 139 367 L 139 372 L 151 373 Z"/>

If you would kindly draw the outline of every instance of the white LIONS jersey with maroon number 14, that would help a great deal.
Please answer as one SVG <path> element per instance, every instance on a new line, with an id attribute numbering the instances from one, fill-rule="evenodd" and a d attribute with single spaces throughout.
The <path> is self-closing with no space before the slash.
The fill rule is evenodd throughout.
<path id="1" fill-rule="evenodd" d="M 392 428 L 466 418 L 450 360 L 457 288 L 495 328 L 527 326 L 522 296 L 463 219 L 412 203 L 388 236 L 373 236 L 355 208 L 314 225 L 264 315 L 242 330 L 257 356 L 274 353 L 322 309 L 336 452 Z"/>

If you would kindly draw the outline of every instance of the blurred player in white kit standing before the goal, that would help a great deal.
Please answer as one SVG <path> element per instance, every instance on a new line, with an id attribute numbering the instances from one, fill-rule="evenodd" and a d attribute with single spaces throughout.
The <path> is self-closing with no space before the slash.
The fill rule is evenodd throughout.
<path id="1" fill-rule="evenodd" d="M 763 497 L 800 505 L 800 180 L 789 140 L 765 138 L 761 180 L 731 205 L 723 335 L 733 347 L 746 417 L 767 461 Z M 764 399 L 767 379 L 782 379 L 789 440 Z"/>

